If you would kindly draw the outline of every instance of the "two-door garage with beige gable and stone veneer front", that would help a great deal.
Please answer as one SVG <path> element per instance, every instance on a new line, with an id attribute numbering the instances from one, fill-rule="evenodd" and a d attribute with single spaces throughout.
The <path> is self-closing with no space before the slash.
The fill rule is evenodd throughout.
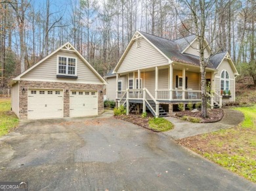
<path id="1" fill-rule="evenodd" d="M 70 43 L 9 82 L 20 119 L 97 116 L 107 82 Z"/>

